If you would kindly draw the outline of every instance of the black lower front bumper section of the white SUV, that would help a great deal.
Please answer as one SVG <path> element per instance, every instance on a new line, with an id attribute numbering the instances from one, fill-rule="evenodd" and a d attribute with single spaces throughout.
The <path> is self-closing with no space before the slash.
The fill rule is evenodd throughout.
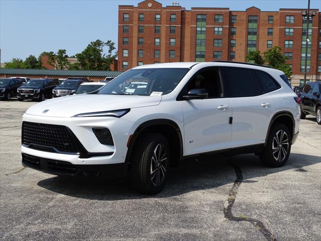
<path id="1" fill-rule="evenodd" d="M 70 162 L 22 154 L 22 165 L 59 176 L 105 176 L 122 178 L 126 174 L 125 163 L 105 165 L 74 165 Z"/>

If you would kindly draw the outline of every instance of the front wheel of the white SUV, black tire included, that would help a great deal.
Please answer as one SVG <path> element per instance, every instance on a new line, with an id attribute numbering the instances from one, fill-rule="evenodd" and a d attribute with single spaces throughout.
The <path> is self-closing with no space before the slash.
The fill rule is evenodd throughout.
<path id="1" fill-rule="evenodd" d="M 165 186 L 170 167 L 168 141 L 163 135 L 154 133 L 138 138 L 131 158 L 132 185 L 144 194 L 159 193 Z"/>

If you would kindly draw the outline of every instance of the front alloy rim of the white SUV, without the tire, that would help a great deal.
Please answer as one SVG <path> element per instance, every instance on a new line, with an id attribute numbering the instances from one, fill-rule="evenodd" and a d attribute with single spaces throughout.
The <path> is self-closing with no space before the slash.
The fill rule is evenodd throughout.
<path id="1" fill-rule="evenodd" d="M 155 187 L 161 185 L 165 179 L 167 162 L 168 154 L 166 147 L 160 143 L 155 147 L 150 162 L 150 178 L 151 183 Z"/>

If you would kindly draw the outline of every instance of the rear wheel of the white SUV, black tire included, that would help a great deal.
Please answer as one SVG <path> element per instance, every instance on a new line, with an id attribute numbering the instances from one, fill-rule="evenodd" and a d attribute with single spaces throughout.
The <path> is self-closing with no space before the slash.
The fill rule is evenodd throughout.
<path id="1" fill-rule="evenodd" d="M 281 140 L 282 144 L 278 142 L 278 139 Z M 267 144 L 259 155 L 261 162 L 269 167 L 283 166 L 291 152 L 291 141 L 288 128 L 280 123 L 274 124 L 270 130 Z"/>

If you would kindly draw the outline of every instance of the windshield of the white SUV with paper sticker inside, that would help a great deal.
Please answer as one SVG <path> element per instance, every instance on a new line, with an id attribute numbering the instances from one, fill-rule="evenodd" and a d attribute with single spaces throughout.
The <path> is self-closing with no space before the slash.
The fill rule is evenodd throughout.
<path id="1" fill-rule="evenodd" d="M 189 70 L 188 68 L 131 69 L 110 81 L 99 90 L 98 94 L 165 95 L 175 89 Z M 132 85 L 135 87 L 132 88 Z M 139 85 L 146 85 L 143 93 L 135 91 Z M 132 91 L 126 92 L 127 89 Z"/>

